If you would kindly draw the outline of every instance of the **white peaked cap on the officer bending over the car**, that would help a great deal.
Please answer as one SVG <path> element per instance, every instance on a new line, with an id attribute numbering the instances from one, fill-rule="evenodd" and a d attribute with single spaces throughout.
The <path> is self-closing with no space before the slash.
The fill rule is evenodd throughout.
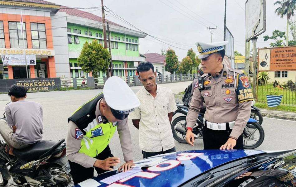
<path id="1" fill-rule="evenodd" d="M 127 83 L 119 77 L 110 77 L 103 88 L 104 98 L 117 119 L 125 119 L 140 106 L 140 101 Z"/>

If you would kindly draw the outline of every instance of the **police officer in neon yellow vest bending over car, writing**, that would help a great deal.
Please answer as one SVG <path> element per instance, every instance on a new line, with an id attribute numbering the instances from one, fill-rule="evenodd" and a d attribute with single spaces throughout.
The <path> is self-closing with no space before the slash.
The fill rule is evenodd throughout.
<path id="1" fill-rule="evenodd" d="M 102 93 L 69 117 L 66 156 L 74 184 L 92 178 L 94 169 L 101 174 L 121 162 L 113 157 L 108 146 L 116 128 L 125 161 L 118 170 L 124 172 L 134 165 L 127 116 L 139 105 L 139 99 L 125 81 L 110 77 Z"/>

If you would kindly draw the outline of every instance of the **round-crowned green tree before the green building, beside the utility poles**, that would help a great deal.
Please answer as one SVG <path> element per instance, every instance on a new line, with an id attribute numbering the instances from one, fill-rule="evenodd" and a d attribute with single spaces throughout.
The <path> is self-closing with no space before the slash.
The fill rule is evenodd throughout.
<path id="1" fill-rule="evenodd" d="M 110 58 L 109 51 L 97 40 L 93 40 L 92 43 L 86 41 L 77 58 L 77 65 L 84 72 L 92 72 L 94 78 L 98 78 L 98 72 L 107 72 Z"/>

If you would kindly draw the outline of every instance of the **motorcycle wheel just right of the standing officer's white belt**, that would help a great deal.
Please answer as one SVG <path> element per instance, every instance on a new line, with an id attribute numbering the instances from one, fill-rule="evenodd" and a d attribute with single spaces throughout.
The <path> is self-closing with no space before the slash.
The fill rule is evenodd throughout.
<path id="1" fill-rule="evenodd" d="M 248 127 L 248 125 L 251 127 Z M 244 149 L 255 149 L 259 147 L 264 137 L 264 130 L 258 122 L 248 122 L 243 132 Z"/>

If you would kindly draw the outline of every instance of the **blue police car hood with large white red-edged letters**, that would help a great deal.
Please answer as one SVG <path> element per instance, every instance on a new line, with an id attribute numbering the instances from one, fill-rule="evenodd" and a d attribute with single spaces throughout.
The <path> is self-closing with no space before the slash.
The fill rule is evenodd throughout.
<path id="1" fill-rule="evenodd" d="M 258 150 L 195 150 L 181 151 L 149 157 L 135 163 L 166 159 L 155 166 L 142 167 L 142 171 L 111 185 L 100 182 L 101 180 L 116 175 L 117 171 L 110 171 L 89 179 L 75 187 L 126 187 L 126 186 L 179 186 L 188 180 L 215 167 L 245 157 L 264 154 Z"/>

